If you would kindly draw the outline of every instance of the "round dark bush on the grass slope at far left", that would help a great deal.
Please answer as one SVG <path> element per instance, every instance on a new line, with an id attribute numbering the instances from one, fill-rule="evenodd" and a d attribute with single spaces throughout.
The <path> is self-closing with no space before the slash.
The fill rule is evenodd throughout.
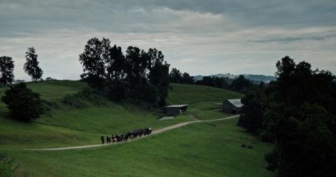
<path id="1" fill-rule="evenodd" d="M 1 101 L 7 104 L 10 117 L 16 120 L 28 122 L 39 118 L 43 113 L 39 94 L 27 88 L 25 83 L 10 86 Z"/>

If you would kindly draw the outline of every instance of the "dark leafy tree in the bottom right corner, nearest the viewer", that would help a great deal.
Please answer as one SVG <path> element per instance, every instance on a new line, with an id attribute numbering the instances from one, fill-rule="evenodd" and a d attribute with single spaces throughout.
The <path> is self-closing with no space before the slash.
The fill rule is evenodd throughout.
<path id="1" fill-rule="evenodd" d="M 329 120 L 323 107 L 308 103 L 302 104 L 297 118 L 281 118 L 276 148 L 265 156 L 267 169 L 279 176 L 335 176 L 336 142 Z"/>

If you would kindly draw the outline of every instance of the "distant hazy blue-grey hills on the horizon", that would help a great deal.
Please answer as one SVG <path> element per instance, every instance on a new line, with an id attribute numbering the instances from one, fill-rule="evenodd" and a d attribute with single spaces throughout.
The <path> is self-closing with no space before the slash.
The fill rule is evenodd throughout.
<path id="1" fill-rule="evenodd" d="M 269 83 L 272 80 L 276 80 L 276 78 L 274 76 L 265 76 L 262 74 L 231 74 L 231 73 L 218 73 L 218 74 L 214 74 L 214 75 L 210 75 L 211 77 L 216 77 L 216 78 L 230 78 L 230 79 L 234 79 L 237 78 L 238 76 L 243 75 L 245 78 L 247 78 L 248 80 L 253 80 L 253 81 L 262 81 L 265 83 Z M 202 80 L 204 76 L 202 75 L 197 75 L 197 76 L 193 76 L 193 78 L 195 80 Z"/>

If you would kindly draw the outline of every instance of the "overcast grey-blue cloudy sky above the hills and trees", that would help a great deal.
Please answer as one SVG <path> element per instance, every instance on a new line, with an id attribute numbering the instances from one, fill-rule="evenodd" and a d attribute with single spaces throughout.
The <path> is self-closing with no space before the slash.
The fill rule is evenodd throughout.
<path id="1" fill-rule="evenodd" d="M 48 76 L 78 79 L 89 38 L 158 48 L 191 75 L 274 75 L 286 55 L 336 73 L 335 0 L 0 0 L 0 56 L 13 57 L 15 78 L 34 46 Z"/>

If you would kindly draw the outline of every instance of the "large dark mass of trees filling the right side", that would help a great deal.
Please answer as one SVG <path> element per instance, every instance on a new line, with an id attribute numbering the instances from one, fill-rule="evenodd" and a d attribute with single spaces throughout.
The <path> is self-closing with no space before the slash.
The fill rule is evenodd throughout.
<path id="1" fill-rule="evenodd" d="M 241 99 L 238 125 L 275 143 L 265 160 L 279 176 L 336 176 L 336 77 L 288 56 L 276 69 Z"/>

